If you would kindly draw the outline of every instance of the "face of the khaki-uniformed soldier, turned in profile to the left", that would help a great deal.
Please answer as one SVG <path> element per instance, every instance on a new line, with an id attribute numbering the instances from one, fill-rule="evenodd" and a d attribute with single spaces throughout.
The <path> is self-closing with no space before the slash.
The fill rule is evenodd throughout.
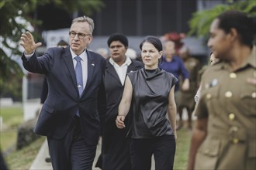
<path id="1" fill-rule="evenodd" d="M 217 59 L 228 59 L 232 47 L 230 33 L 226 33 L 219 28 L 218 19 L 213 21 L 209 32 L 210 38 L 207 45 L 212 49 L 215 57 Z"/>

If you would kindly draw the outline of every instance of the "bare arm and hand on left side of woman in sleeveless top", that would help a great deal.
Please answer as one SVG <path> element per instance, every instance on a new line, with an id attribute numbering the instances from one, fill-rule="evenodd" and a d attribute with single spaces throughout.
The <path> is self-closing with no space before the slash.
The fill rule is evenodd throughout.
<path id="1" fill-rule="evenodd" d="M 123 97 L 119 104 L 118 115 L 116 117 L 116 127 L 125 128 L 124 120 L 130 110 L 130 104 L 133 97 L 133 85 L 130 82 L 129 76 L 126 76 L 126 83 L 124 85 Z"/>

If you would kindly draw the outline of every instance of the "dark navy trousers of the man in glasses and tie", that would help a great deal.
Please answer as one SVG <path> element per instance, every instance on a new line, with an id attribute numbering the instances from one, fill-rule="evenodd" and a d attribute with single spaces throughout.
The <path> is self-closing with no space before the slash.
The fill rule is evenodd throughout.
<path id="1" fill-rule="evenodd" d="M 79 117 L 61 140 L 47 137 L 50 148 L 50 158 L 56 170 L 92 170 L 97 145 L 86 145 L 81 136 Z"/>

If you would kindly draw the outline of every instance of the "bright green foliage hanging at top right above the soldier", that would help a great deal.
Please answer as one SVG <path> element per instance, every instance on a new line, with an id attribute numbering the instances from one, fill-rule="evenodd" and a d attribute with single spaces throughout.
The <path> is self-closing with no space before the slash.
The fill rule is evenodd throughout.
<path id="1" fill-rule="evenodd" d="M 189 20 L 190 31 L 188 36 L 202 36 L 207 39 L 209 37 L 209 27 L 213 20 L 220 15 L 220 13 L 230 9 L 246 12 L 248 16 L 256 17 L 256 2 L 254 0 L 237 2 L 227 0 L 226 4 L 216 5 L 209 10 L 194 12 L 192 19 Z"/>

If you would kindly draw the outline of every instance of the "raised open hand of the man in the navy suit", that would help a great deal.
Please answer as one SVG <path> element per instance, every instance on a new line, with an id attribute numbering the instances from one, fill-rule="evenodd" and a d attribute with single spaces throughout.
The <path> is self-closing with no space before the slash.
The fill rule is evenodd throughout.
<path id="1" fill-rule="evenodd" d="M 22 33 L 20 40 L 21 41 L 19 44 L 25 49 L 26 54 L 32 54 L 34 50 L 36 50 L 39 46 L 42 46 L 41 42 L 35 43 L 30 32 Z"/>

